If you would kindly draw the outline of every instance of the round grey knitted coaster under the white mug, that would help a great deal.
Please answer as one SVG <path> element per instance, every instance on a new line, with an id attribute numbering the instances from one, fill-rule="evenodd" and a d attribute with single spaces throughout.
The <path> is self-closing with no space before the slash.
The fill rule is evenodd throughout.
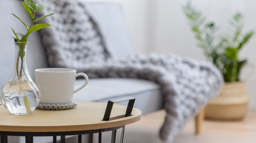
<path id="1" fill-rule="evenodd" d="M 66 109 L 72 109 L 77 106 L 76 102 L 66 103 L 66 104 L 43 104 L 39 103 L 36 108 L 42 109 L 42 110 L 66 110 Z"/>

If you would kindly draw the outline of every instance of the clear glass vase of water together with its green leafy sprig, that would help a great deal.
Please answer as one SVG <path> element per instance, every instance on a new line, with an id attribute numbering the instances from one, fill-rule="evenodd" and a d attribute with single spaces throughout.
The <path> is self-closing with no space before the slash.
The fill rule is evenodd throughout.
<path id="1" fill-rule="evenodd" d="M 12 28 L 15 35 L 15 66 L 11 77 L 0 92 L 0 99 L 5 109 L 12 115 L 28 115 L 35 109 L 40 100 L 40 91 L 32 81 L 27 67 L 27 42 L 28 37 L 33 32 L 44 27 L 51 26 L 50 24 L 34 24 L 35 22 L 53 15 L 49 14 L 35 19 L 35 14 L 38 11 L 44 10 L 42 5 L 35 4 L 32 0 L 21 1 L 25 10 L 32 18 L 29 26 L 25 24 L 18 16 L 16 17 L 27 29 L 25 34 L 17 33 Z M 20 37 L 20 38 L 19 38 Z"/>

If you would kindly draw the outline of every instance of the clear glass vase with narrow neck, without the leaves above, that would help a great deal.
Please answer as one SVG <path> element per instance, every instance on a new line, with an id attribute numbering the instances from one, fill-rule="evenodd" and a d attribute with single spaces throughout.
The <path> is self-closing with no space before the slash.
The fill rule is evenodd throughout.
<path id="1" fill-rule="evenodd" d="M 0 92 L 3 106 L 12 115 L 31 114 L 40 101 L 40 92 L 28 71 L 28 44 L 29 42 L 14 42 L 14 69 L 10 79 Z"/>

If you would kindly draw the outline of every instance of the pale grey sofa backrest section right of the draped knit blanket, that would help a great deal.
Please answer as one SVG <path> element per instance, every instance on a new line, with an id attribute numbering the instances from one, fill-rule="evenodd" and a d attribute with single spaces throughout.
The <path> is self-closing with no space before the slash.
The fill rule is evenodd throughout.
<path id="1" fill-rule="evenodd" d="M 123 7 L 115 2 L 85 2 L 114 59 L 135 54 Z"/>

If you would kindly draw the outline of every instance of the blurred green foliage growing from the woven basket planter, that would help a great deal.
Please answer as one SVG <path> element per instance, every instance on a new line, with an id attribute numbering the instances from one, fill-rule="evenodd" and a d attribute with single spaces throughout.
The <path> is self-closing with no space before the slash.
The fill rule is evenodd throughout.
<path id="1" fill-rule="evenodd" d="M 222 72 L 224 81 L 239 81 L 240 71 L 246 63 L 246 60 L 239 60 L 239 51 L 254 34 L 254 31 L 243 34 L 243 14 L 235 13 L 232 16 L 230 25 L 233 29 L 233 36 L 216 37 L 215 24 L 205 23 L 202 13 L 193 8 L 190 2 L 183 7 L 183 11 L 190 22 L 191 31 L 198 41 L 198 46 Z"/>

